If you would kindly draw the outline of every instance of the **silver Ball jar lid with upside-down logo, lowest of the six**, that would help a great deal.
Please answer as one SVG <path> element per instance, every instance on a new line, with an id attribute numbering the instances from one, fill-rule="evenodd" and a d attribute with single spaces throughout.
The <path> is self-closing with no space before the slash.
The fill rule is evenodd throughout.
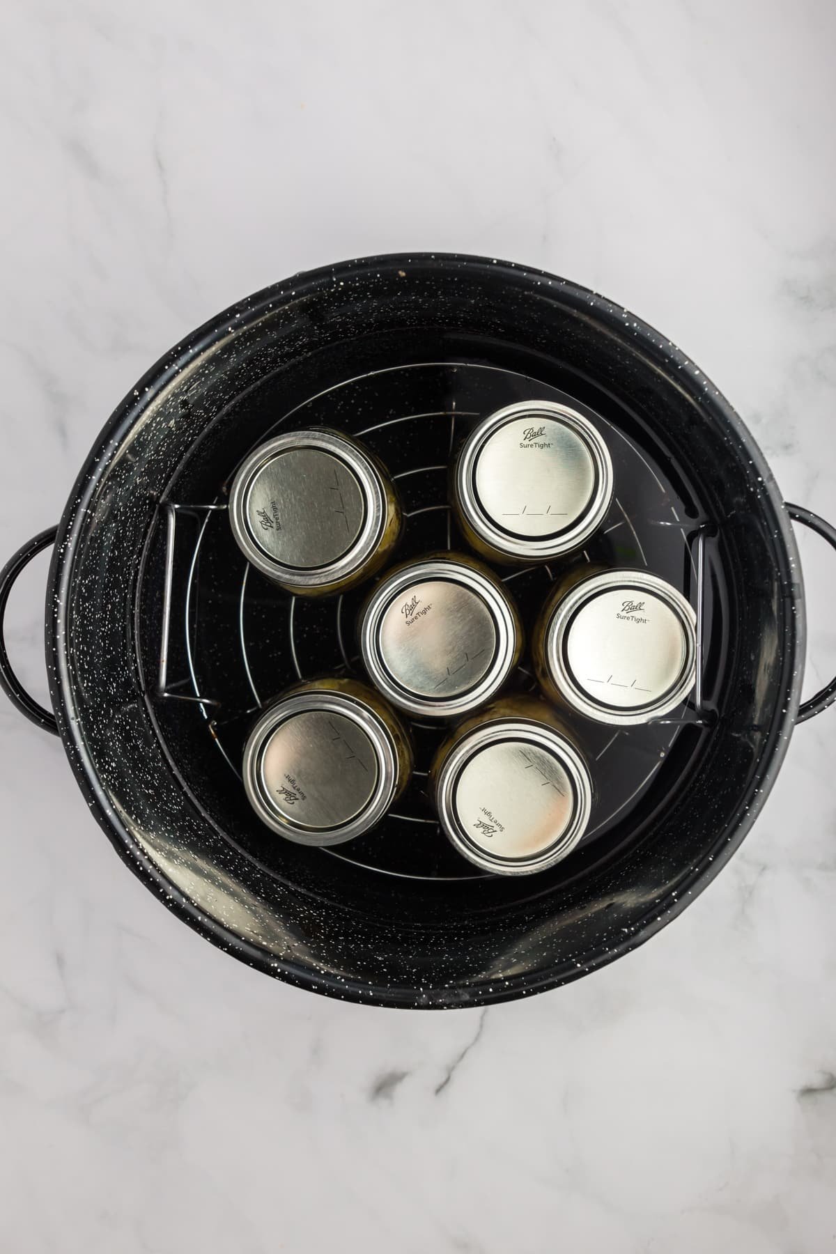
<path id="1" fill-rule="evenodd" d="M 528 720 L 485 722 L 454 742 L 436 775 L 439 819 L 483 870 L 528 875 L 580 840 L 592 779 L 565 736 Z"/>

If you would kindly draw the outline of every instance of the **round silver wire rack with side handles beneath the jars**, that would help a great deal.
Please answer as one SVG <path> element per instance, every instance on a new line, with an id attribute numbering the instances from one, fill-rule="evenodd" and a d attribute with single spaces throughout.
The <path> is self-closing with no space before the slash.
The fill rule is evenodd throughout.
<path id="1" fill-rule="evenodd" d="M 415 369 L 415 367 L 412 367 Z M 446 367 L 445 367 L 446 369 Z M 462 364 L 461 370 L 485 370 Z M 505 372 L 503 372 L 505 374 Z M 515 376 L 519 379 L 519 376 Z M 356 380 L 351 381 L 357 384 Z M 516 390 L 519 391 L 519 382 Z M 531 399 L 549 395 L 549 389 L 529 381 Z M 442 409 L 389 413 L 377 423 L 356 423 L 351 429 L 345 414 L 333 420 L 336 389 L 311 398 L 283 415 L 280 423 L 262 431 L 253 444 L 273 435 L 280 425 L 312 425 L 312 419 L 327 425 L 340 425 L 361 438 L 391 466 L 404 503 L 405 537 L 399 558 L 417 556 L 429 549 L 461 548 L 447 502 L 447 473 L 457 441 L 484 413 L 483 408 L 459 408 L 454 400 Z M 322 401 L 330 404 L 323 405 Z M 320 403 L 320 404 L 317 404 Z M 336 406 L 337 409 L 340 406 Z M 300 421 L 298 410 L 305 410 Z M 706 700 L 708 637 L 712 617 L 711 581 L 707 553 L 714 534 L 713 524 L 704 515 L 686 515 L 686 508 L 658 465 L 617 425 L 600 420 L 615 465 L 617 495 L 600 534 L 584 556 L 592 561 L 613 564 L 640 566 L 668 578 L 687 596 L 697 616 L 697 681 L 689 700 L 669 716 L 656 719 L 638 727 L 612 729 L 589 725 L 580 720 L 580 740 L 597 781 L 597 801 L 583 843 L 609 831 L 629 814 L 637 799 L 647 794 L 656 774 L 668 759 L 683 729 L 696 732 L 708 730 L 716 712 Z M 420 431 L 420 438 L 414 439 Z M 396 456 L 394 456 L 394 450 Z M 404 464 L 404 463 L 407 464 Z M 414 464 L 412 464 L 414 463 Z M 227 480 L 228 483 L 228 480 Z M 269 703 L 287 683 L 322 673 L 321 658 L 330 657 L 332 673 L 365 678 L 355 641 L 355 618 L 360 594 L 342 594 L 328 602 L 311 601 L 285 593 L 256 572 L 234 549 L 229 539 L 226 485 L 214 500 L 194 503 L 163 500 L 160 520 L 165 533 L 165 561 L 162 594 L 162 645 L 155 700 L 188 702 L 203 720 L 207 739 L 229 771 L 241 777 L 241 749 L 246 729 L 258 711 Z M 217 603 L 223 606 L 226 627 L 224 648 L 218 652 L 203 609 L 202 584 L 207 579 L 222 589 Z M 228 569 L 226 569 L 228 567 Z M 223 569 L 223 578 L 218 571 Z M 178 574 L 178 572 L 180 572 Z M 213 572 L 213 573 L 212 573 Z M 555 566 L 536 566 L 511 572 L 499 571 L 509 591 L 518 596 L 524 619 L 530 623 L 549 586 L 560 573 Z M 525 613 L 528 609 L 528 614 Z M 267 645 L 258 622 L 269 617 L 282 622 Z M 234 628 L 232 621 L 234 619 Z M 203 641 L 212 647 L 207 650 Z M 311 638 L 316 647 L 311 647 Z M 178 648 L 172 643 L 177 641 Z M 172 655 L 177 652 L 183 665 L 180 673 L 172 673 Z M 211 656 L 209 656 L 211 655 Z M 231 660 L 232 655 L 234 657 Z M 207 660 L 208 658 L 208 660 Z M 212 661 L 214 658 L 214 661 Z M 219 660 L 218 660 L 219 658 Z M 231 686 L 229 670 L 239 676 Z M 223 673 L 223 683 L 216 683 Z M 281 682 L 280 682 L 281 681 Z M 535 678 L 524 661 L 515 677 L 519 691 L 534 691 Z M 386 825 L 407 824 L 425 831 L 429 845 L 444 841 L 437 820 L 426 796 L 426 779 L 432 751 L 446 734 L 444 727 L 412 720 L 416 744 L 414 780 L 396 810 L 390 811 Z M 693 732 L 692 732 L 693 735 Z M 444 841 L 446 846 L 446 841 Z M 480 878 L 462 863 L 459 868 L 449 858 L 434 854 L 426 868 L 399 870 L 391 865 L 386 844 L 374 838 L 361 838 L 338 849 L 322 850 L 323 855 L 342 858 L 390 874 L 417 878 Z"/>

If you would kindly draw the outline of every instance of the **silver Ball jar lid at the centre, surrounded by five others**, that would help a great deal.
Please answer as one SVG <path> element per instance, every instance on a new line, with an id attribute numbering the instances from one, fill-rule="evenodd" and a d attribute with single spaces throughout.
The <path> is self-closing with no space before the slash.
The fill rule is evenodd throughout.
<path id="1" fill-rule="evenodd" d="M 519 658 L 520 626 L 503 584 L 469 558 L 392 571 L 360 623 L 368 675 L 401 710 L 457 717 L 489 701 Z"/>

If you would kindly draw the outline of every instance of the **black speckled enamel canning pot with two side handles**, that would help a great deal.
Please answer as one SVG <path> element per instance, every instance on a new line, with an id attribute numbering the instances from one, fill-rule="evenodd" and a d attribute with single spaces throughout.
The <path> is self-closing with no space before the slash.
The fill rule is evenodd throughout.
<path id="1" fill-rule="evenodd" d="M 292 597 L 248 568 L 227 494 L 280 429 L 323 424 L 387 465 L 406 529 L 397 559 L 465 547 L 450 460 L 501 405 L 572 400 L 607 440 L 615 490 L 587 557 L 640 566 L 691 599 L 698 681 L 643 727 L 578 720 L 595 803 L 556 867 L 496 877 L 439 831 L 415 776 L 372 833 L 285 841 L 248 806 L 241 754 L 259 709 L 316 673 L 361 675 L 357 593 Z M 6 566 L 9 589 L 54 542 L 46 593 L 53 710 L 79 786 L 124 861 L 180 918 L 268 974 L 357 1002 L 485 1004 L 574 979 L 647 940 L 741 843 L 800 707 L 803 591 L 790 519 L 752 436 L 664 336 L 595 293 L 504 262 L 386 256 L 298 275 L 167 354 L 117 408 L 58 528 Z M 509 573 L 528 627 L 559 563 Z M 513 582 L 511 582 L 513 581 Z M 515 676 L 533 686 L 524 657 Z M 583 725 L 582 725 L 583 724 Z"/>

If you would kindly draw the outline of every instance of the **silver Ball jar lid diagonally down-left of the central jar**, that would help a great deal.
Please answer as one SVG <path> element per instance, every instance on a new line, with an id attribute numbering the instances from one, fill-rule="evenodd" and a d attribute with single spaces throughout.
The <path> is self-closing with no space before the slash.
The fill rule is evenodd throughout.
<path id="1" fill-rule="evenodd" d="M 338 845 L 372 828 L 399 782 L 382 719 L 341 692 L 291 693 L 247 740 L 243 781 L 259 819 L 303 845 Z"/>

